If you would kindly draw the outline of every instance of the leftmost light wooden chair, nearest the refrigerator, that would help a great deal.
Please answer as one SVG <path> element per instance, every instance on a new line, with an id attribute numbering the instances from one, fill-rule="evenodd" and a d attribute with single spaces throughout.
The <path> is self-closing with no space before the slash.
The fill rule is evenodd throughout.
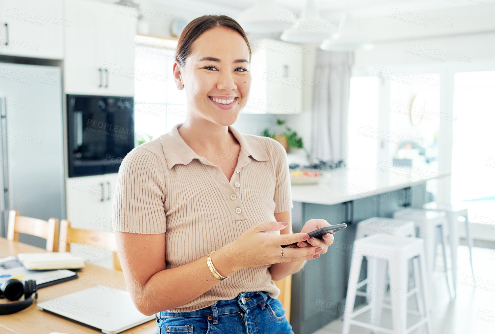
<path id="1" fill-rule="evenodd" d="M 16 210 L 8 212 L 7 239 L 19 241 L 19 233 L 47 239 L 47 250 L 58 251 L 58 219 L 48 221 L 31 217 L 19 216 Z"/>

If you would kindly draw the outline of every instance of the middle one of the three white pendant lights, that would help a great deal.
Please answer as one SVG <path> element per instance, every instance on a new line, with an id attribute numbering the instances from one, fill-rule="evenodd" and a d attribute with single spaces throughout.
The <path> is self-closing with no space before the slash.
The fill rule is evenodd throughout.
<path id="1" fill-rule="evenodd" d="M 331 35 L 332 23 L 318 13 L 313 0 L 306 0 L 296 28 L 286 29 L 280 39 L 290 43 L 318 43 Z M 338 27 L 337 27 L 338 28 Z"/>

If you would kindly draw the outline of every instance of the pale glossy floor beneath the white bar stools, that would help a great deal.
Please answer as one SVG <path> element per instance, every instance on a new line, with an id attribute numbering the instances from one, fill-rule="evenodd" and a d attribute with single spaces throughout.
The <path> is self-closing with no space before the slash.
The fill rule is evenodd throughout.
<path id="1" fill-rule="evenodd" d="M 474 247 L 473 257 L 474 278 L 471 273 L 469 250 L 467 246 L 459 246 L 457 296 L 452 300 L 449 298 L 445 275 L 442 273 L 443 261 L 440 257 L 437 258 L 432 304 L 433 334 L 495 333 L 495 249 Z M 477 281 L 476 286 L 473 285 L 473 281 Z M 414 297 L 410 297 L 409 308 L 414 307 Z M 415 319 L 417 318 L 411 316 L 407 326 L 413 325 Z M 313 334 L 340 334 L 342 324 L 342 319 L 335 320 Z M 390 310 L 384 310 L 381 326 L 392 329 Z M 350 333 L 369 334 L 371 331 L 351 326 Z M 422 326 L 411 333 L 426 334 L 426 327 Z"/>

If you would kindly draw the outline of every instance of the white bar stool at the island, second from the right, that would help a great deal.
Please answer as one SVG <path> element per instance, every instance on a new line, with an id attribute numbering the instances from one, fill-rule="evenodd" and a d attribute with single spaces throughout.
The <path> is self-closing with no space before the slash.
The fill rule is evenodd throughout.
<path id="1" fill-rule="evenodd" d="M 447 287 L 452 297 L 452 293 L 455 296 L 455 289 L 450 285 L 451 275 L 448 273 L 448 263 L 451 263 L 447 260 L 447 252 L 446 252 L 446 232 L 447 232 L 447 222 L 445 212 L 431 211 L 425 209 L 414 209 L 407 208 L 403 210 L 399 210 L 394 212 L 394 218 L 401 219 L 411 219 L 414 221 L 414 225 L 418 228 L 417 236 L 421 239 L 425 240 L 425 256 L 426 256 L 426 264 L 428 268 L 428 282 L 430 284 L 430 291 L 433 291 L 433 269 L 435 264 L 435 255 L 437 242 L 435 238 L 435 234 L 437 231 L 441 233 L 440 239 L 442 243 L 442 250 L 444 253 L 444 266 L 445 266 L 445 274 L 447 280 Z M 431 295 L 429 297 L 432 297 Z"/>

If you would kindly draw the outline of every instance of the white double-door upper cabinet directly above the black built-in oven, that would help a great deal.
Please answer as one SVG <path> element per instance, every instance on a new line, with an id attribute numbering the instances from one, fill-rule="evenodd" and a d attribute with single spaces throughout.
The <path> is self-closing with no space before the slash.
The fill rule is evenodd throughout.
<path id="1" fill-rule="evenodd" d="M 137 23 L 125 14 L 113 3 L 65 0 L 67 94 L 134 96 Z"/>

